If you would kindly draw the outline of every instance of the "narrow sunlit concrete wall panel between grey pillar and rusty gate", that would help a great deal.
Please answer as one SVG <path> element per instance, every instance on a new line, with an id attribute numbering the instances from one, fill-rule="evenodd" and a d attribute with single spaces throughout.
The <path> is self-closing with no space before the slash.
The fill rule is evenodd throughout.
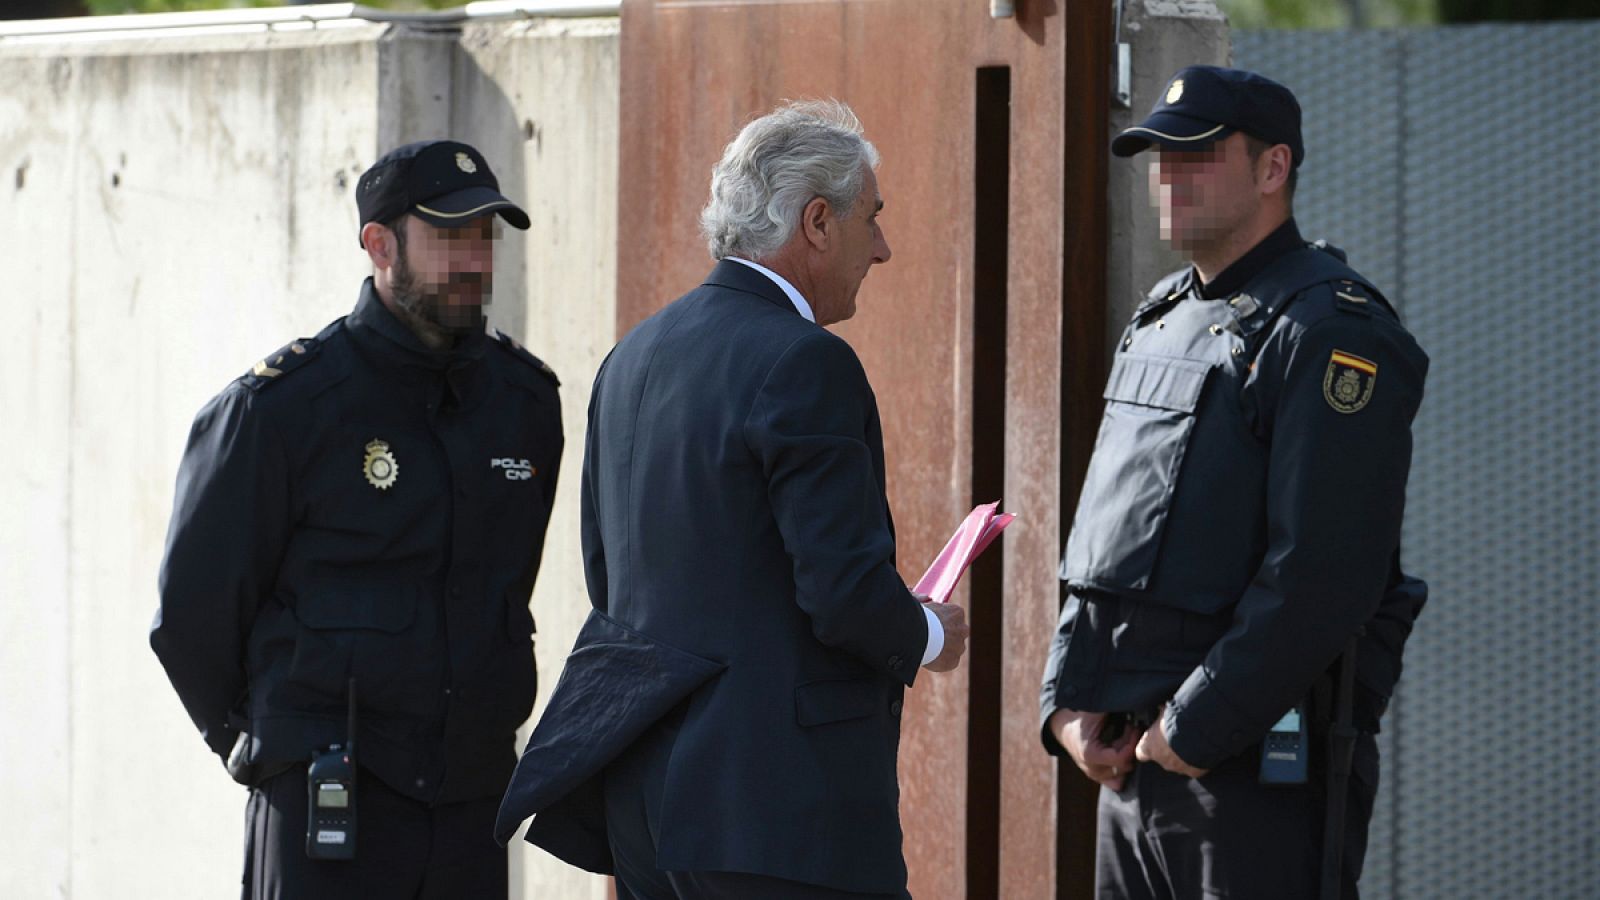
<path id="1" fill-rule="evenodd" d="M 526 197 L 526 239 L 496 259 L 496 325 L 562 376 L 566 456 L 533 593 L 539 625 L 539 708 L 589 612 L 578 543 L 578 484 L 589 386 L 616 343 L 618 19 L 469 26 L 454 61 L 453 133 L 490 160 L 512 160 L 501 187 Z M 510 234 L 518 234 L 512 231 Z M 518 301 L 520 303 L 515 303 Z M 528 727 L 517 741 L 526 743 Z M 606 879 L 518 839 L 510 857 L 522 897 L 606 897 Z M 515 892 L 514 892 L 515 895 Z"/>

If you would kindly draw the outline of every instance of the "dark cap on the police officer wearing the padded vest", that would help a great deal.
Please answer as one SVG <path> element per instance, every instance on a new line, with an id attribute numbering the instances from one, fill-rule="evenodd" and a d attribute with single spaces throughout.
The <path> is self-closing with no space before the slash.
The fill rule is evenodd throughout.
<path id="1" fill-rule="evenodd" d="M 1173 75 L 1150 115 L 1117 135 L 1110 152 L 1131 157 L 1150 144 L 1200 149 L 1234 131 L 1269 144 L 1288 144 L 1294 168 L 1306 159 L 1294 94 L 1272 78 L 1216 66 L 1190 66 Z"/>

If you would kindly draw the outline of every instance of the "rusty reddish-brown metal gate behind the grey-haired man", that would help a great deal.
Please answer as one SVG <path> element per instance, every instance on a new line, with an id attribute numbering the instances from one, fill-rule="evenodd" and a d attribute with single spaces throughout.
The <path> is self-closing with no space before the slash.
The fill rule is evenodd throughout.
<path id="1" fill-rule="evenodd" d="M 838 331 L 878 394 L 902 567 L 931 559 L 974 500 L 1022 516 L 962 597 L 965 681 L 907 695 L 918 898 L 1090 889 L 1093 793 L 1058 783 L 1037 709 L 1061 509 L 1104 381 L 1110 5 L 1016 6 L 995 19 L 982 2 L 622 5 L 619 330 L 709 271 L 696 216 L 738 128 L 784 98 L 840 98 L 883 154 L 894 258 Z"/>

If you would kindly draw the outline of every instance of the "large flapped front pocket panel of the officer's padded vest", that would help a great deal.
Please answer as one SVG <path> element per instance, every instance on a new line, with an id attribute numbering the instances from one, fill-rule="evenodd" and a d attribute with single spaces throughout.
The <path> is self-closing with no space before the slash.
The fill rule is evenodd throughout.
<path id="1" fill-rule="evenodd" d="M 1064 581 L 1101 589 L 1149 586 L 1211 370 L 1190 359 L 1117 356 L 1061 560 Z"/>

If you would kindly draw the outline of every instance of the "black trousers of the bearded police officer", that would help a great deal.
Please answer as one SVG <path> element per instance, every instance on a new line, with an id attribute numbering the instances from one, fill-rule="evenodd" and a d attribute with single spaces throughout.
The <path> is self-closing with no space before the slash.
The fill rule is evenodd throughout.
<path id="1" fill-rule="evenodd" d="M 362 769 L 347 862 L 306 857 L 306 765 L 250 791 L 245 900 L 506 900 L 506 849 L 494 842 L 499 798 L 429 807 Z"/>

